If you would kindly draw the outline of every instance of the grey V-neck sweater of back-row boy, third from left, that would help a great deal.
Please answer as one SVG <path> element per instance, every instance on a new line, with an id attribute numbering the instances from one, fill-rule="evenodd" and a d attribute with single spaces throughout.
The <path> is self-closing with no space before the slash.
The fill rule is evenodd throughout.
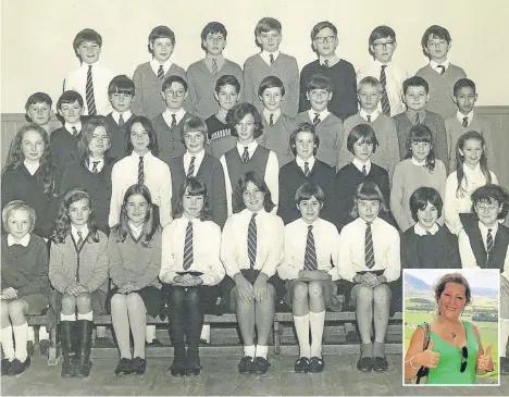
<path id="1" fill-rule="evenodd" d="M 206 119 L 218 110 L 218 101 L 214 98 L 215 84 L 221 76 L 232 75 L 240 84 L 239 97 L 244 90 L 244 75 L 240 66 L 227 59 L 214 76 L 207 66 L 204 60 L 199 60 L 187 69 L 188 92 L 193 103 L 191 113 Z"/>

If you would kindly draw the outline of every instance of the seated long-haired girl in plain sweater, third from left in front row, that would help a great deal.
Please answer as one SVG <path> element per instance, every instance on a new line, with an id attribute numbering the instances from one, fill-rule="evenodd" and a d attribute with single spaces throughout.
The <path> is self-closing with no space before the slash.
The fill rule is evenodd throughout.
<path id="1" fill-rule="evenodd" d="M 125 191 L 120 222 L 108 241 L 110 277 L 114 287 L 108 294 L 113 330 L 121 360 L 115 375 L 144 374 L 145 328 L 147 313 L 157 317 L 162 309 L 161 229 L 154 222 L 152 199 L 145 185 L 133 185 Z M 131 353 L 129 330 L 133 333 Z M 134 357 L 134 358 L 133 358 Z"/>

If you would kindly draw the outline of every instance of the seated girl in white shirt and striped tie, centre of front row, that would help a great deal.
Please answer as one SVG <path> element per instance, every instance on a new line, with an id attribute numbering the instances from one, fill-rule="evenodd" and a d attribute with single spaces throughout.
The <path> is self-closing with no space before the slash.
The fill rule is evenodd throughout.
<path id="1" fill-rule="evenodd" d="M 244 340 L 238 371 L 264 374 L 270 365 L 266 353 L 276 290 L 282 284 L 274 274 L 284 257 L 284 225 L 280 216 L 271 213 L 271 191 L 254 172 L 240 177 L 235 199 L 240 212 L 229 216 L 224 225 L 221 260 L 226 274 L 235 281 L 231 308 L 237 313 Z"/>

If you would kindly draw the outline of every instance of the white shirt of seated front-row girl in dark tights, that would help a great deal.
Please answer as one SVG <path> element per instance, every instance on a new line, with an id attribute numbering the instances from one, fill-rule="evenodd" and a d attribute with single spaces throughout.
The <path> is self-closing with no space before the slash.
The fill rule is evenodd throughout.
<path id="1" fill-rule="evenodd" d="M 216 285 L 225 275 L 220 260 L 221 228 L 212 221 L 193 222 L 193 263 L 184 270 L 184 244 L 186 239 L 186 216 L 175 219 L 162 233 L 162 264 L 159 278 L 173 284 L 177 272 L 201 272 L 203 285 Z"/>

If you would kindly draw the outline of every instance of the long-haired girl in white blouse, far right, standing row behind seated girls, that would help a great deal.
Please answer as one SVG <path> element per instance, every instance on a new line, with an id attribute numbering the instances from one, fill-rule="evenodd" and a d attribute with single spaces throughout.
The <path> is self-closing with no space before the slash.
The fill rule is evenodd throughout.
<path id="1" fill-rule="evenodd" d="M 456 235 L 463 228 L 461 218 L 472 214 L 472 193 L 484 185 L 498 185 L 487 168 L 485 148 L 484 137 L 475 131 L 461 135 L 456 145 L 458 168 L 447 177 L 444 198 L 446 225 Z"/>

